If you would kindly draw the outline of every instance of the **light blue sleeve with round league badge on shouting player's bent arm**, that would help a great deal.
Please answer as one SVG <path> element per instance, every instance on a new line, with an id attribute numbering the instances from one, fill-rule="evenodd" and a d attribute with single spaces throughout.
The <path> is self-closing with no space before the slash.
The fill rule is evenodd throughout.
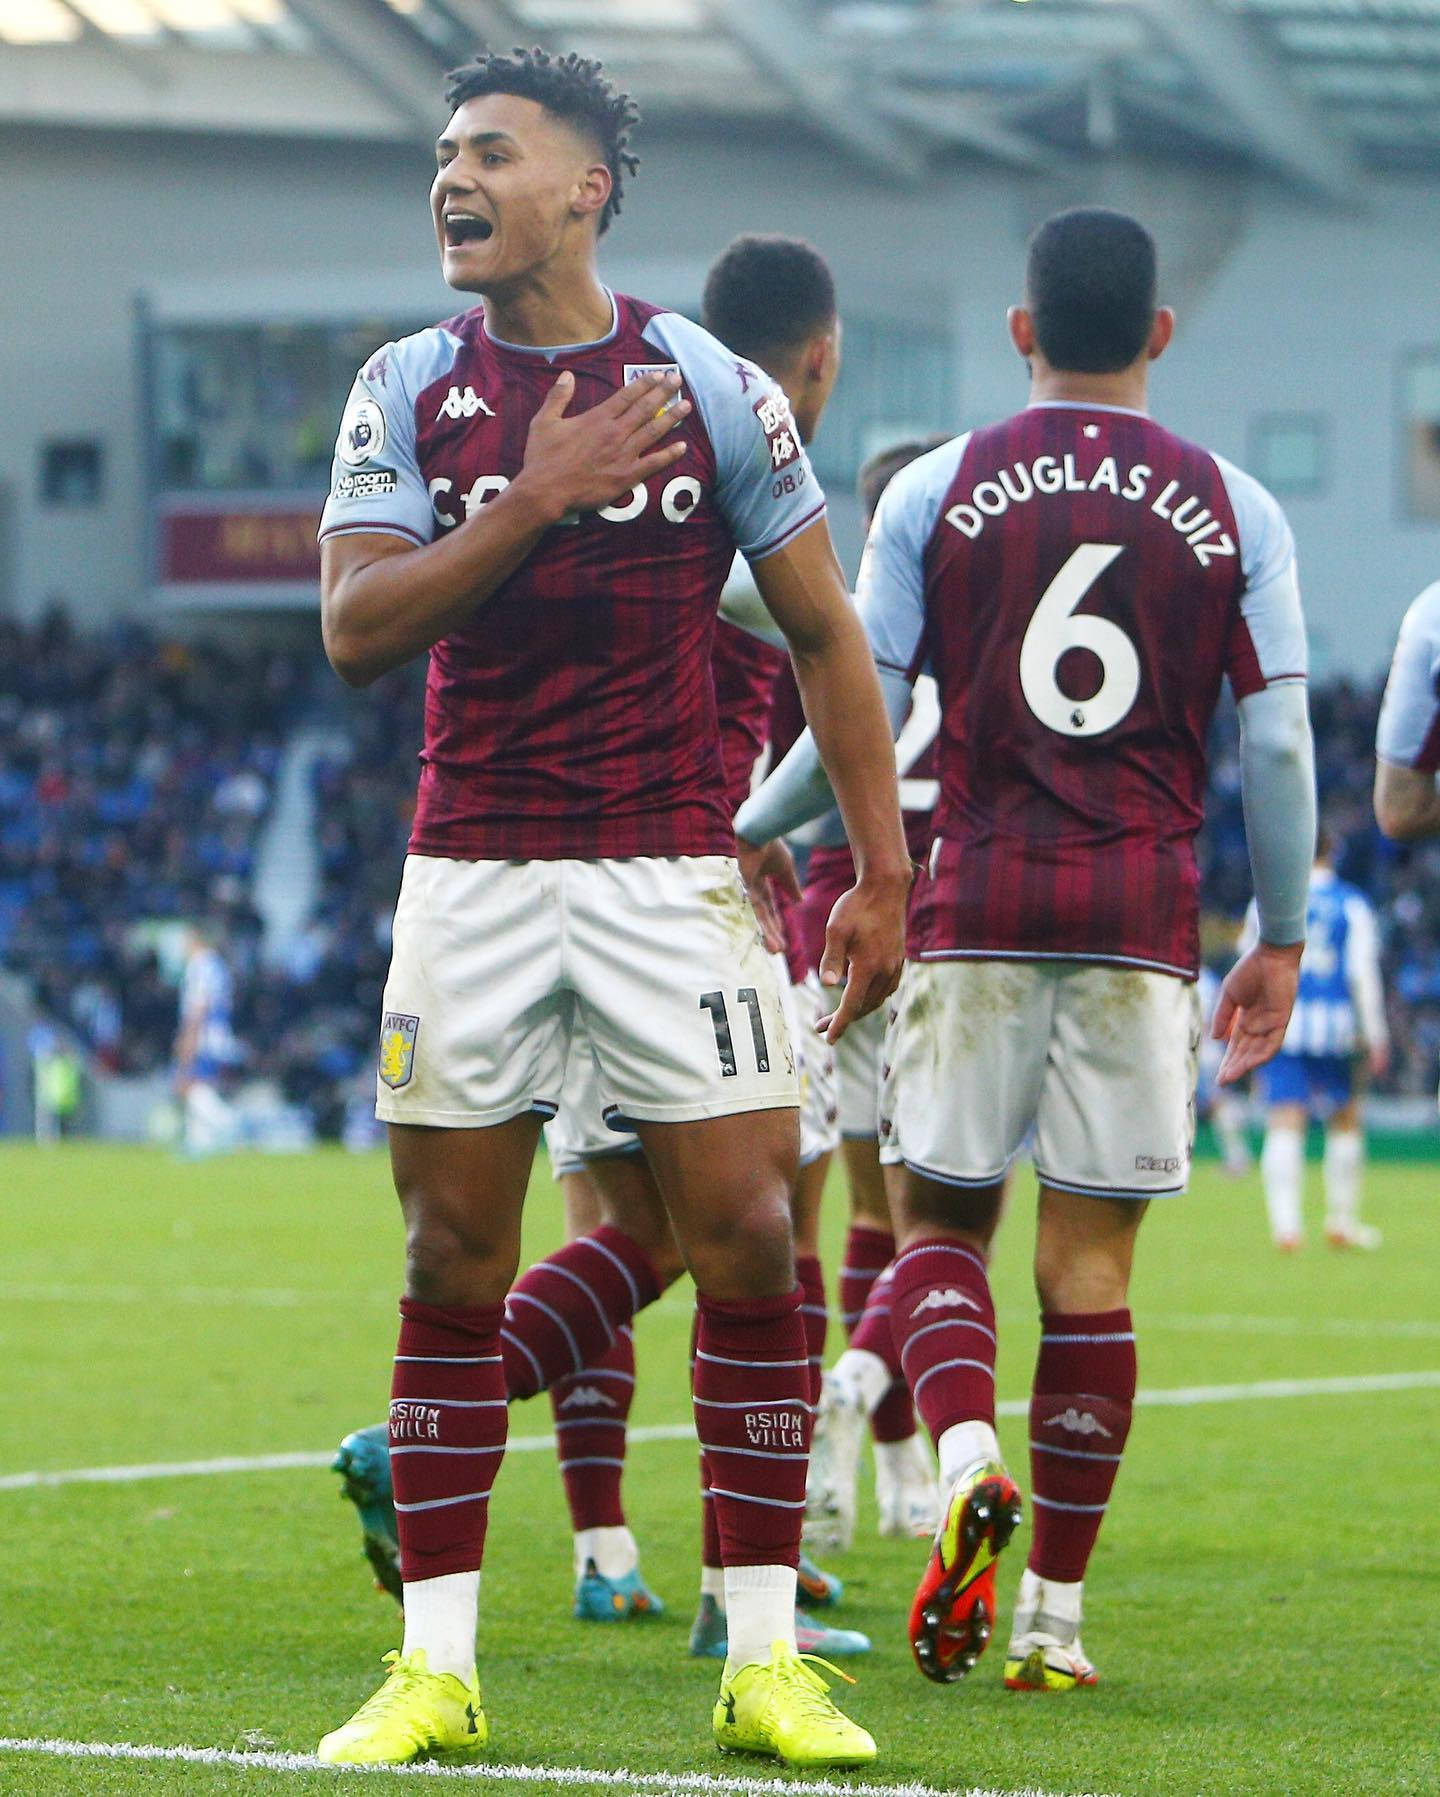
<path id="1" fill-rule="evenodd" d="M 415 453 L 415 395 L 455 361 L 458 341 L 421 331 L 378 349 L 354 377 L 331 462 L 320 541 L 358 530 L 430 543 L 435 510 Z"/>

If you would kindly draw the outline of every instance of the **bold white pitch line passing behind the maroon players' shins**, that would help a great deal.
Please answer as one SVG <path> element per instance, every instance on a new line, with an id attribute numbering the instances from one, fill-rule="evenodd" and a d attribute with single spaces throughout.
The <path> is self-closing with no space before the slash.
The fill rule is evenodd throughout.
<path id="1" fill-rule="evenodd" d="M 1276 1398 L 1350 1398 L 1381 1391 L 1440 1389 L 1440 1371 L 1433 1373 L 1352 1373 L 1339 1378 L 1262 1378 L 1249 1385 L 1176 1385 L 1138 1391 L 1138 1405 L 1174 1409 L 1201 1403 L 1260 1403 Z M 998 1416 L 1028 1416 L 1028 1398 L 1005 1398 Z M 629 1439 L 694 1441 L 690 1423 L 654 1423 L 631 1429 Z M 507 1454 L 539 1454 L 556 1445 L 554 1436 L 511 1436 Z M 252 1454 L 209 1461 L 155 1461 L 142 1466 L 67 1466 L 58 1472 L 13 1472 L 0 1477 L 0 1492 L 34 1492 L 56 1484 L 138 1484 L 144 1479 L 205 1479 L 228 1472 L 288 1472 L 293 1466 L 329 1466 L 334 1454 Z M 786 1786 L 793 1790 L 793 1786 Z M 847 1786 L 849 1788 L 849 1786 Z"/>

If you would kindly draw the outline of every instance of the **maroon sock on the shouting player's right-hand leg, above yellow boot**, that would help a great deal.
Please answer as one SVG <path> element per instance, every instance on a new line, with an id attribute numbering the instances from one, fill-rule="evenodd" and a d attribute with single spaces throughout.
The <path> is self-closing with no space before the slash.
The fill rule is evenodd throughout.
<path id="1" fill-rule="evenodd" d="M 809 1357 L 796 1287 L 699 1297 L 696 1429 L 726 1567 L 796 1565 L 811 1447 Z"/>

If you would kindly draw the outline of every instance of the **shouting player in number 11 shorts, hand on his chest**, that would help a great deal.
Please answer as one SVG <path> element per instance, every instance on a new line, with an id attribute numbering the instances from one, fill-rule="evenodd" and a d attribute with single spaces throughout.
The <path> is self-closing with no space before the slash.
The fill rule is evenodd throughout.
<path id="1" fill-rule="evenodd" d="M 406 1220 L 390 1405 L 404 1641 L 320 1754 L 403 1763 L 485 1739 L 475 1623 L 503 1301 L 581 1017 L 699 1292 L 730 1628 L 716 1739 L 859 1765 L 874 1741 L 795 1653 L 796 1087 L 719 778 L 710 642 L 735 550 L 786 631 L 858 845 L 827 949 L 849 969 L 832 1039 L 901 960 L 910 870 L 879 686 L 784 395 L 597 277 L 635 167 L 631 101 L 597 65 L 538 50 L 476 58 L 446 99 L 431 212 L 446 279 L 484 311 L 367 363 L 322 519 L 336 670 L 363 683 L 430 651 L 430 679 L 379 1053 Z"/>

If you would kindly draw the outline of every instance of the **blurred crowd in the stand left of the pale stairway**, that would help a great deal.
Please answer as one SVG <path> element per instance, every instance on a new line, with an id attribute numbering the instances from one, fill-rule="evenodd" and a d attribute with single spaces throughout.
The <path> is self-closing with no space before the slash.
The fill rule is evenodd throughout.
<path id="1" fill-rule="evenodd" d="M 102 1069 L 169 1060 L 167 924 L 205 918 L 255 963 L 255 845 L 306 677 L 264 649 L 0 618 L 0 965 Z"/>

